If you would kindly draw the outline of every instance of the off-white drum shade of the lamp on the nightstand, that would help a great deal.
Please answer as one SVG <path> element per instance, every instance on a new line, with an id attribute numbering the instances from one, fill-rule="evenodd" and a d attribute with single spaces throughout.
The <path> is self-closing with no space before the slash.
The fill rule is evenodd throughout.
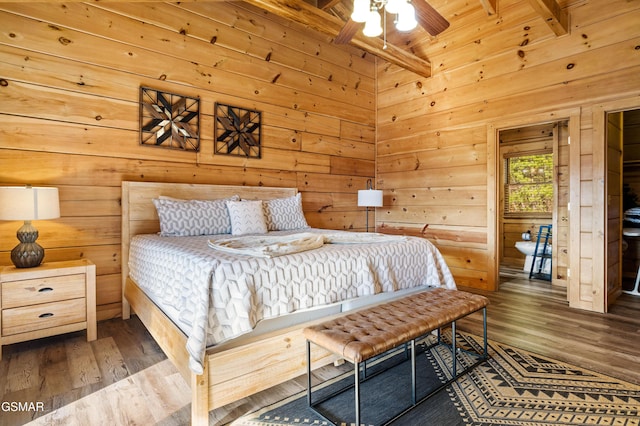
<path id="1" fill-rule="evenodd" d="M 58 217 L 58 188 L 0 187 L 0 220 L 41 220 Z"/>

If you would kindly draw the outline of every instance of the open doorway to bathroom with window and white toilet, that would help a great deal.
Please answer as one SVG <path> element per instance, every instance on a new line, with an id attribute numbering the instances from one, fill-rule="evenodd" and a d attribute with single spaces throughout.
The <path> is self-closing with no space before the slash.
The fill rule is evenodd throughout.
<path id="1" fill-rule="evenodd" d="M 498 253 L 503 275 L 567 286 L 568 120 L 498 131 Z M 550 237 L 545 237 L 550 231 Z M 536 250 L 537 237 L 543 237 Z M 548 242 L 547 249 L 541 248 Z M 533 272 L 533 273 L 532 273 Z"/>

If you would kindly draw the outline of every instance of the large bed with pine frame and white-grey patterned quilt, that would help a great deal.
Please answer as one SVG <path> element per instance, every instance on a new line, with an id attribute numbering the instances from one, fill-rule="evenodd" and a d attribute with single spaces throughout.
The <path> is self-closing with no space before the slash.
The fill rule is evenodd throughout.
<path id="1" fill-rule="evenodd" d="M 190 384 L 193 424 L 208 424 L 210 410 L 304 374 L 304 327 L 339 316 L 348 310 L 381 303 L 426 287 L 455 288 L 455 282 L 440 253 L 420 238 L 369 236 L 364 233 L 355 235 L 308 228 L 271 230 L 265 234 L 268 235 L 264 237 L 265 240 L 276 238 L 278 244 L 272 244 L 272 240 L 266 244 L 264 241 L 256 243 L 251 232 L 243 232 L 243 236 L 222 234 L 183 238 L 173 234 L 166 236 L 166 226 L 161 229 L 158 218 L 158 212 L 163 215 L 158 207 L 158 200 L 161 199 L 169 200 L 167 203 L 173 200 L 226 199 L 229 201 L 226 205 L 231 209 L 237 205 L 242 208 L 247 205 L 237 204 L 238 199 L 263 200 L 268 204 L 293 199 L 296 195 L 295 188 L 122 183 L 123 318 L 128 319 L 131 311 L 138 315 Z M 252 220 L 244 222 L 253 223 Z M 266 222 L 269 223 L 269 220 Z M 240 227 L 234 223 L 234 232 L 238 229 L 236 226 Z M 159 236 L 159 231 L 165 235 Z M 387 237 L 390 239 L 385 240 Z M 380 238 L 382 242 L 361 241 L 358 238 Z M 283 239 L 286 241 L 284 245 L 280 244 Z M 317 246 L 311 247 L 309 244 Z M 183 252 L 185 245 L 187 251 Z M 300 249 L 296 245 L 304 247 Z M 413 245 L 419 248 L 409 247 Z M 273 253 L 274 247 L 278 251 L 283 246 L 286 250 L 294 247 L 286 253 Z M 380 250 L 389 254 L 380 254 L 377 247 L 382 247 Z M 423 250 L 424 247 L 426 250 Z M 194 251 L 190 252 L 189 249 Z M 247 249 L 250 251 L 246 252 Z M 396 250 L 410 249 L 419 250 L 420 253 L 397 256 Z M 314 268 L 335 268 L 335 259 L 357 259 L 361 251 L 371 252 L 369 254 L 372 257 L 366 261 L 365 271 L 361 272 L 364 277 L 357 289 L 345 287 L 341 290 L 337 288 L 339 285 L 333 283 L 332 286 L 337 286 L 335 289 L 323 290 L 323 281 L 319 279 L 324 274 Z M 172 257 L 174 252 L 178 253 L 178 260 L 175 261 Z M 429 267 L 424 271 L 412 271 L 418 266 L 393 266 L 393 253 L 396 253 L 395 257 L 404 259 L 426 256 L 425 262 Z M 215 260 L 210 260 L 209 256 Z M 198 261 L 192 262 L 191 259 Z M 327 266 L 315 265 L 314 262 L 320 262 L 318 259 L 326 259 Z M 211 266 L 210 262 L 215 265 Z M 183 263 L 187 266 L 180 266 Z M 416 265 L 422 263 L 416 262 Z M 179 267 L 187 267 L 188 271 L 181 271 Z M 238 273 L 238 268 L 244 269 Z M 154 275 L 156 269 L 160 270 L 157 276 Z M 247 269 L 259 272 L 247 278 Z M 278 273 L 272 274 L 271 271 L 276 270 Z M 420 278 L 414 279 L 411 274 Z M 167 278 L 167 275 L 171 276 Z M 180 277 L 186 276 L 194 282 L 198 281 L 196 276 L 207 276 L 208 290 L 205 291 L 210 293 L 200 294 L 202 290 L 192 290 L 191 287 L 187 290 L 172 288 L 164 296 L 153 291 L 153 287 L 162 287 L 160 281 L 181 280 Z M 299 283 L 302 276 L 309 279 Z M 295 285 L 291 285 L 293 282 Z M 220 286 L 223 290 L 220 290 Z M 263 286 L 266 286 L 265 291 L 255 290 Z M 287 289 L 293 287 L 295 291 L 302 291 L 298 288 L 305 286 L 311 289 L 309 292 L 313 293 L 313 297 L 290 297 Z M 238 288 L 244 290 L 238 291 Z M 177 293 L 172 296 L 171 291 Z M 183 294 L 190 296 L 183 297 Z M 167 300 L 171 305 L 172 299 L 175 301 L 173 306 L 163 305 Z M 289 299 L 295 299 L 295 303 Z M 228 306 L 238 306 L 233 310 L 239 313 L 234 313 L 231 318 L 224 311 Z M 185 307 L 189 308 L 186 314 Z M 223 310 L 215 311 L 218 308 Z M 196 311 L 201 312 L 198 314 Z M 206 323 L 206 329 L 201 321 Z M 334 355 L 320 348 L 315 348 L 312 353 L 313 368 L 334 361 Z"/>

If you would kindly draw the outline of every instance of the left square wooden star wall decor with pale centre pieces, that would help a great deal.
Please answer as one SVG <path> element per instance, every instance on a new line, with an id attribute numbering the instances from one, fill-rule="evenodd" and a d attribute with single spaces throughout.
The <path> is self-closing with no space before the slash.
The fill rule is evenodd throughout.
<path id="1" fill-rule="evenodd" d="M 200 99 L 140 88 L 140 144 L 200 150 Z"/>

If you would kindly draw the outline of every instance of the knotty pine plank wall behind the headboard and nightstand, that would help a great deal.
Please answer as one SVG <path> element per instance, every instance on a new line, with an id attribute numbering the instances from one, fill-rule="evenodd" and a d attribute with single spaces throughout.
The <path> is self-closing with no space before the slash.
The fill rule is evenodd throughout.
<path id="1" fill-rule="evenodd" d="M 121 311 L 123 180 L 296 187 L 312 226 L 364 230 L 376 72 L 361 51 L 242 3 L 0 3 L 0 22 L 0 185 L 59 187 L 39 242 L 45 261 L 96 263 L 99 319 Z M 139 145 L 141 85 L 200 97 L 198 154 Z M 214 102 L 262 112 L 262 159 L 213 155 Z M 2 265 L 19 226 L 0 222 Z"/>

